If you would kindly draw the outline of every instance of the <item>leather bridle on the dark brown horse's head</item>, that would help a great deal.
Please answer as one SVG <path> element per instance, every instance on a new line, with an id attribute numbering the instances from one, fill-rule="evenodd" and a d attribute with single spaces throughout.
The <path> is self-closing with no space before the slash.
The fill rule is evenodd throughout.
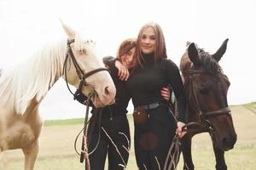
<path id="1" fill-rule="evenodd" d="M 221 71 L 221 69 L 219 68 L 217 73 L 219 73 L 220 71 Z M 215 117 L 215 116 L 221 116 L 221 115 L 225 115 L 225 114 L 230 114 L 231 111 L 228 106 L 218 109 L 216 111 L 203 111 L 201 104 L 196 95 L 196 91 L 195 91 L 195 83 L 196 82 L 193 79 L 193 75 L 195 75 L 195 74 L 213 74 L 213 73 L 208 73 L 206 71 L 195 71 L 195 70 L 191 70 L 191 69 L 187 70 L 187 71 L 182 71 L 182 73 L 189 76 L 189 80 L 187 82 L 185 82 L 184 89 L 189 88 L 189 85 L 190 85 L 190 88 L 192 89 L 192 96 L 195 99 L 195 105 L 196 105 L 197 110 L 201 116 L 201 122 L 189 122 L 183 128 L 189 129 L 189 126 L 192 127 L 195 125 L 198 127 L 203 127 L 204 129 L 207 130 L 207 132 L 212 133 L 214 131 L 214 127 L 212 126 L 212 123 L 208 120 L 208 118 Z M 192 131 L 193 131 L 193 129 L 192 129 Z"/>

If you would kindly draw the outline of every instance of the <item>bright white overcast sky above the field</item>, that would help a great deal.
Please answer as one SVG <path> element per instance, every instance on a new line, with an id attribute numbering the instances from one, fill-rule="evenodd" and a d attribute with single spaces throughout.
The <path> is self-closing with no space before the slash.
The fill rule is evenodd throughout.
<path id="1" fill-rule="evenodd" d="M 168 58 L 177 65 L 187 41 L 213 54 L 229 38 L 219 64 L 230 78 L 229 104 L 244 104 L 256 101 L 255 8 L 254 0 L 0 0 L 0 67 L 67 38 L 59 19 L 93 39 L 99 58 L 115 56 L 120 42 L 137 37 L 141 26 L 153 21 L 162 27 Z M 40 111 L 44 119 L 65 119 L 84 116 L 85 107 L 60 80 Z"/>

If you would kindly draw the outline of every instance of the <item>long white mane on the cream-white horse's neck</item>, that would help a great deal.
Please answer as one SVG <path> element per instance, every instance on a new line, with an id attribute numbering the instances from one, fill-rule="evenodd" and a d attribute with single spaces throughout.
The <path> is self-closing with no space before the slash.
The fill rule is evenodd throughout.
<path id="1" fill-rule="evenodd" d="M 47 45 L 0 78 L 0 107 L 24 114 L 32 99 L 39 102 L 61 77 L 67 42 Z"/>

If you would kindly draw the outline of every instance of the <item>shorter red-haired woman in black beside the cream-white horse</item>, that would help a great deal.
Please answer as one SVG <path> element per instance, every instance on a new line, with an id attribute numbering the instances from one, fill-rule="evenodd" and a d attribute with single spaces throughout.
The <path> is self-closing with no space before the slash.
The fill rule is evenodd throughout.
<path id="1" fill-rule="evenodd" d="M 130 129 L 126 117 L 127 106 L 131 99 L 126 89 L 127 75 L 133 67 L 133 55 L 137 40 L 126 39 L 119 46 L 117 58 L 111 56 L 103 58 L 104 64 L 108 67 L 116 87 L 115 104 L 102 108 L 102 115 L 93 115 L 89 126 L 89 162 L 91 170 L 103 170 L 108 155 L 108 169 L 119 170 L 127 166 L 130 149 Z M 119 62 L 115 62 L 119 61 Z M 119 63 L 121 65 L 119 65 Z M 119 69 L 116 68 L 116 65 Z M 161 95 L 166 100 L 170 99 L 170 92 L 164 88 Z M 83 103 L 85 96 L 80 94 L 78 100 Z M 101 121 L 100 121 L 101 120 Z M 87 169 L 86 164 L 85 169 Z"/>

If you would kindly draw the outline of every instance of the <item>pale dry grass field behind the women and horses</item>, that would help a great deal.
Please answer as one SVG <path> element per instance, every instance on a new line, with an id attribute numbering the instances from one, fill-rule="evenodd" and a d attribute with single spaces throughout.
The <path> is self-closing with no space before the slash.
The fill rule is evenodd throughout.
<path id="1" fill-rule="evenodd" d="M 256 103 L 251 103 L 231 107 L 238 139 L 235 148 L 225 153 L 226 162 L 230 170 L 256 169 L 255 106 Z M 129 119 L 132 136 L 133 126 L 131 116 L 129 116 Z M 74 139 L 83 127 L 83 122 L 83 119 L 45 122 L 40 138 L 41 148 L 35 170 L 84 169 L 84 164 L 79 163 L 79 156 L 73 149 Z M 77 147 L 78 149 L 80 148 L 80 142 Z M 196 170 L 215 169 L 212 144 L 207 133 L 201 133 L 195 136 L 192 152 Z M 23 159 L 21 150 L 5 151 L 0 154 L 0 170 L 22 170 L 24 164 Z M 182 164 L 183 160 L 181 157 L 177 169 L 182 169 Z M 131 156 L 127 169 L 137 169 L 133 141 L 131 141 Z"/>

